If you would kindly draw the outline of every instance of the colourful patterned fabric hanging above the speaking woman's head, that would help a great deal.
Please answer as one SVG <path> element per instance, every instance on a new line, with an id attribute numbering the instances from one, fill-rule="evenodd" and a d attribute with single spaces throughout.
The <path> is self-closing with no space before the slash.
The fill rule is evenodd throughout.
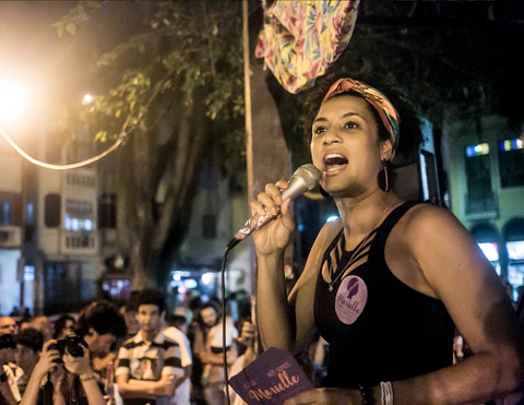
<path id="1" fill-rule="evenodd" d="M 257 58 L 289 93 L 312 86 L 349 43 L 359 2 L 275 1 L 264 12 Z"/>

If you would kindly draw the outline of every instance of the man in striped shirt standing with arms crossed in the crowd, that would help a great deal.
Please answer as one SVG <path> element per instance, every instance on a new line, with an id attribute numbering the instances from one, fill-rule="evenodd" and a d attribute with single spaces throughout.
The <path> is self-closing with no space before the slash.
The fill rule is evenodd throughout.
<path id="1" fill-rule="evenodd" d="M 124 405 L 167 405 L 182 381 L 180 347 L 162 332 L 166 299 L 162 291 L 144 289 L 136 297 L 139 333 L 118 354 L 118 391 Z"/>

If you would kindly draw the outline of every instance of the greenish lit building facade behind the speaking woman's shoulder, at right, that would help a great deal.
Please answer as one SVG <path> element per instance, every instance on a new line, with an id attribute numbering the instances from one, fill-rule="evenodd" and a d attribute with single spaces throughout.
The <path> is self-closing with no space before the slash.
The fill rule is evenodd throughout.
<path id="1" fill-rule="evenodd" d="M 450 122 L 443 135 L 451 209 L 516 299 L 524 277 L 522 132 L 503 117 L 487 116 Z"/>

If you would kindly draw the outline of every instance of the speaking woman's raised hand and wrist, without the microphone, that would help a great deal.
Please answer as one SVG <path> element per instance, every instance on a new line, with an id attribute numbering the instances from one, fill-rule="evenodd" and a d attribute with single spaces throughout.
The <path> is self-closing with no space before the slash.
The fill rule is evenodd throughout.
<path id="1" fill-rule="evenodd" d="M 291 201 L 287 199 L 283 202 L 281 195 L 281 190 L 287 187 L 287 182 L 282 180 L 276 184 L 269 183 L 265 186 L 265 192 L 259 194 L 258 201 L 251 203 L 252 214 L 262 216 L 270 213 L 275 217 L 252 234 L 258 254 L 276 253 L 286 248 L 291 239 L 295 228 L 290 210 Z"/>

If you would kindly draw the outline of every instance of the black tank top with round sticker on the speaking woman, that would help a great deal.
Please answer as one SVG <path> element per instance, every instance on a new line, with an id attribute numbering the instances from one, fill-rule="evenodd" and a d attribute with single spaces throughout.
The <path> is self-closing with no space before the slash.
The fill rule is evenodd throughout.
<path id="1" fill-rule="evenodd" d="M 442 301 L 406 286 L 384 260 L 391 229 L 415 204 L 404 203 L 384 219 L 367 262 L 338 278 L 333 291 L 322 278 L 322 269 L 319 272 L 314 318 L 330 344 L 324 386 L 377 385 L 453 362 L 454 324 Z M 342 235 L 330 247 L 330 260 L 335 262 L 342 258 Z"/>

